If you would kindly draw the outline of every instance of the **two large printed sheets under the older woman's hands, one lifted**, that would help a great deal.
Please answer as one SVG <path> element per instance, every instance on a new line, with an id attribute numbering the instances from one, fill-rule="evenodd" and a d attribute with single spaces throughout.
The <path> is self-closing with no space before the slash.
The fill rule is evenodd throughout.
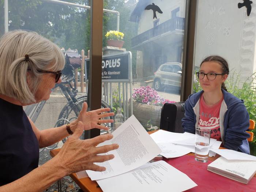
<path id="1" fill-rule="evenodd" d="M 185 191 L 197 186 L 186 174 L 164 161 L 147 163 L 161 149 L 148 135 L 135 116 L 131 116 L 113 133 L 111 140 L 98 146 L 117 143 L 119 148 L 105 154 L 115 158 L 103 163 L 104 172 L 86 170 L 91 180 L 96 180 L 104 192 L 113 191 Z M 104 154 L 102 154 L 104 155 Z"/>

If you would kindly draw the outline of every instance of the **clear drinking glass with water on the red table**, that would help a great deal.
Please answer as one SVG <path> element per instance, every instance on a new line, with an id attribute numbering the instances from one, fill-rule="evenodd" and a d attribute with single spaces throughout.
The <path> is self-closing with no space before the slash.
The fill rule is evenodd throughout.
<path id="1" fill-rule="evenodd" d="M 207 162 L 209 155 L 211 129 L 205 127 L 196 128 L 195 160 Z"/>

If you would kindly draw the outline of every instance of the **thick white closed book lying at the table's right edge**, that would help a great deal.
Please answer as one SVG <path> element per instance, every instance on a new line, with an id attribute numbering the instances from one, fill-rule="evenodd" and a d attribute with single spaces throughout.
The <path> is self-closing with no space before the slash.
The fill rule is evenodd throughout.
<path id="1" fill-rule="evenodd" d="M 219 157 L 207 166 L 207 170 L 247 184 L 256 173 L 256 161 Z"/>

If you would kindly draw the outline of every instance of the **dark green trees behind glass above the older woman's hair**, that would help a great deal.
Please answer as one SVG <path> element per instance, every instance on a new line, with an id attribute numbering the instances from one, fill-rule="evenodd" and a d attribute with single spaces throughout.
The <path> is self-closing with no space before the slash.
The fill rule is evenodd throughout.
<path id="1" fill-rule="evenodd" d="M 71 3 L 88 4 L 88 0 L 69 0 Z M 0 0 L 4 10 L 4 0 Z M 9 30 L 35 31 L 60 46 L 84 48 L 82 30 L 86 12 L 83 9 L 59 5 L 41 0 L 9 0 Z M 4 33 L 4 11 L 0 11 L 0 35 Z M 79 35 L 78 35 L 79 34 Z"/>

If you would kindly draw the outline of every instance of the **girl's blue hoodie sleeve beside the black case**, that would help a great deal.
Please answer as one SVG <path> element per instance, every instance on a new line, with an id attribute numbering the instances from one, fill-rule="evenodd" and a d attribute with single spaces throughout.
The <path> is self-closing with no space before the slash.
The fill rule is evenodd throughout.
<path id="1" fill-rule="evenodd" d="M 189 98 L 185 102 L 185 117 L 182 118 L 182 127 L 183 132 L 189 132 L 195 134 L 195 119 L 194 119 L 194 111 L 192 106 L 189 103 Z"/>

